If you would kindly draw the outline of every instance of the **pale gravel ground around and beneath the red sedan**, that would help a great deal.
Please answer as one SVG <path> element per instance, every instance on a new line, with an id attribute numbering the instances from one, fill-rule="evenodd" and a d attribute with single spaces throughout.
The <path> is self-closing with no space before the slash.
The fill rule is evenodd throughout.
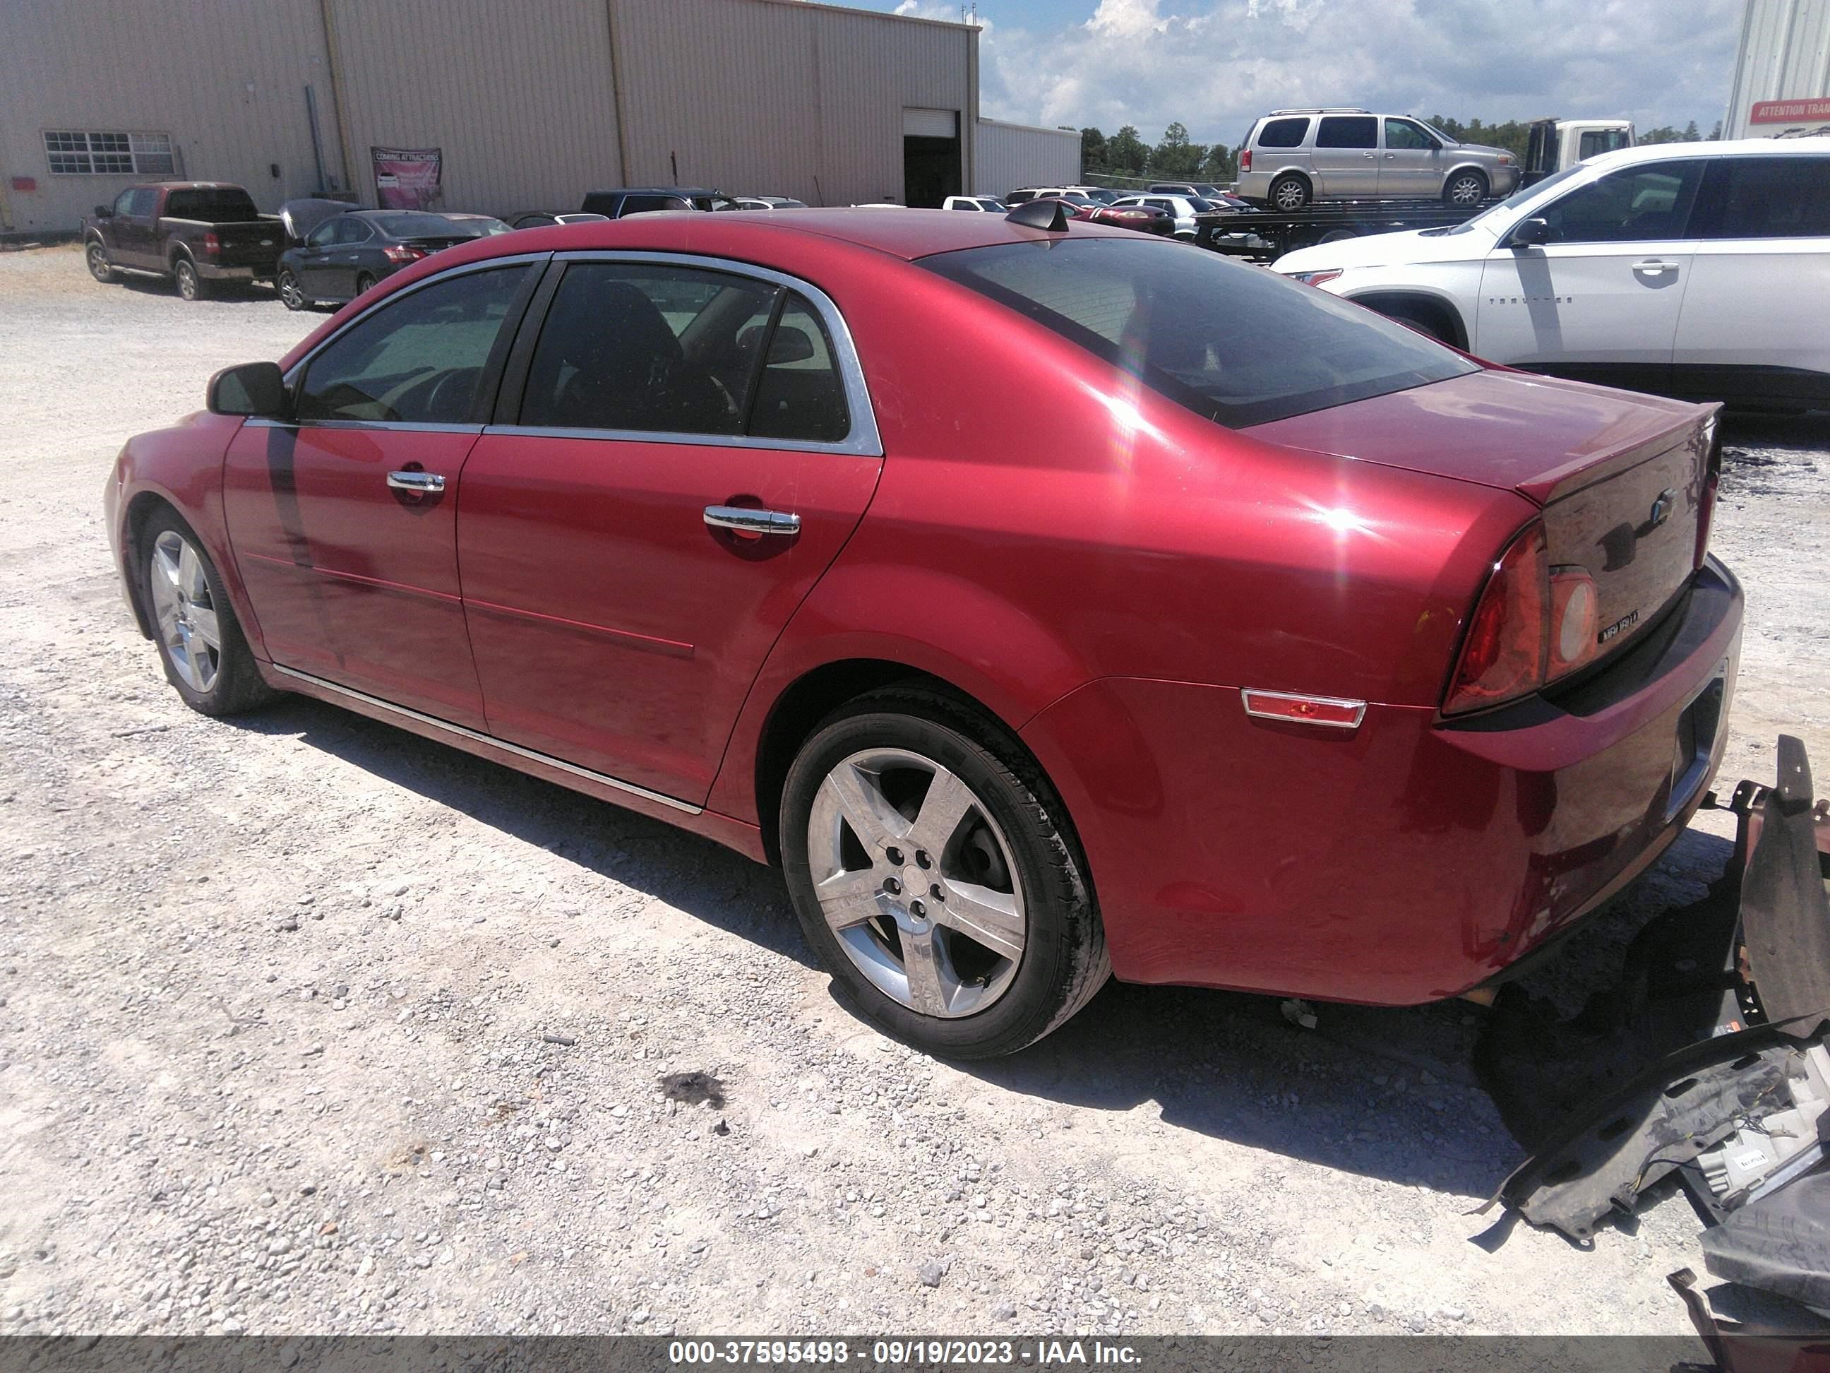
<path id="1" fill-rule="evenodd" d="M 1471 1243 L 1517 1148 L 1464 1003 L 1301 1031 L 1114 985 L 957 1069 L 847 1016 L 708 842 L 326 705 L 185 710 L 104 472 L 318 319 L 0 254 L 0 1329 L 1687 1329 L 1671 1192 L 1590 1252 Z M 1729 780 L 1779 729 L 1830 760 L 1830 421 L 1731 443 Z M 1722 818 L 1590 961 L 1698 893 Z"/>

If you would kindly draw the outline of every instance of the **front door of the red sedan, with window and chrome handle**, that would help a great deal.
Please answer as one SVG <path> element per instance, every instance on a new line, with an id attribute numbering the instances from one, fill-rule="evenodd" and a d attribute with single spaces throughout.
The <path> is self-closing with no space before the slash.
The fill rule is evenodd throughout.
<path id="1" fill-rule="evenodd" d="M 229 445 L 229 538 L 282 668 L 483 729 L 458 496 L 533 273 L 490 262 L 390 297 L 293 370 L 287 421 Z"/>

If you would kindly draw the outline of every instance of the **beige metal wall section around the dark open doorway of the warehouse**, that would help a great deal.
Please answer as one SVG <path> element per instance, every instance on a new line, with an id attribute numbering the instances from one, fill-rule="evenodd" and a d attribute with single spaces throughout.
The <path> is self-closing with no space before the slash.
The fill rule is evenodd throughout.
<path id="1" fill-rule="evenodd" d="M 977 31 L 959 24 L 800 0 L 611 0 L 611 13 L 631 185 L 900 201 L 902 110 L 957 110 L 963 132 L 977 121 Z"/>

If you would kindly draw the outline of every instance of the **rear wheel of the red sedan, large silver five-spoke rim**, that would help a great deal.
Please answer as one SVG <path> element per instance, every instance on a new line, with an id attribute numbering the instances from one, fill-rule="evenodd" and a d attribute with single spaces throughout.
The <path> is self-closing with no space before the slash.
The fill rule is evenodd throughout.
<path id="1" fill-rule="evenodd" d="M 1014 1053 L 1111 974 L 1060 798 L 1016 740 L 946 696 L 891 688 L 829 716 L 789 769 L 780 838 L 833 981 L 928 1053 Z"/>

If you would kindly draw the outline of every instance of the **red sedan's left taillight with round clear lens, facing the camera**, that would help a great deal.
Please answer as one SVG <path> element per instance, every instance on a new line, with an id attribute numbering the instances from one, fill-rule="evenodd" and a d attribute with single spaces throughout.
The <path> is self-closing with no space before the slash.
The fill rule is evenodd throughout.
<path id="1" fill-rule="evenodd" d="M 1596 655 L 1601 599 L 1587 568 L 1550 566 L 1545 525 L 1528 524 L 1501 553 L 1475 613 L 1442 714 L 1530 696 Z"/>

